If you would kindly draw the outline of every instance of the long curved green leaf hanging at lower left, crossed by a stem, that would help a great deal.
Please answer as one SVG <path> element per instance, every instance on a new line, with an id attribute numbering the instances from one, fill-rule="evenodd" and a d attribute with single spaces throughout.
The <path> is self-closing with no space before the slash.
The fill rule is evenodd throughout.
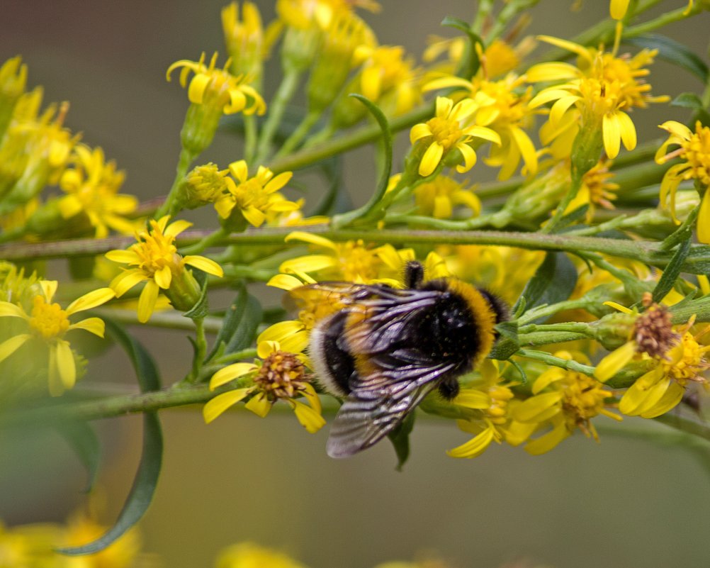
<path id="1" fill-rule="evenodd" d="M 136 370 L 138 385 L 141 392 L 149 392 L 160 388 L 160 377 L 158 368 L 146 348 L 138 343 L 136 339 L 129 336 L 123 328 L 116 323 L 107 320 L 107 331 L 114 336 L 116 341 L 128 353 Z M 163 433 L 160 430 L 157 412 L 143 413 L 143 451 L 141 453 L 141 463 L 138 464 L 136 478 L 129 493 L 124 508 L 119 513 L 116 523 L 101 537 L 93 542 L 79 547 L 67 547 L 57 549 L 61 554 L 77 556 L 80 554 L 94 554 L 104 550 L 116 541 L 121 535 L 138 523 L 146 513 L 148 505 L 151 504 L 155 486 L 160 475 L 160 464 L 163 459 Z"/>

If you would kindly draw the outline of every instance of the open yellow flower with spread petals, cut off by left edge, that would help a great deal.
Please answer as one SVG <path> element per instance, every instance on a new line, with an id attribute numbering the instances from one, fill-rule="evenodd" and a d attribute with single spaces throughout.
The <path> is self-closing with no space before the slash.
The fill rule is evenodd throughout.
<path id="1" fill-rule="evenodd" d="M 67 306 L 67 309 L 62 309 L 59 304 L 52 303 L 57 291 L 57 282 L 42 280 L 40 285 L 42 293 L 33 297 L 30 314 L 22 306 L 0 301 L 0 317 L 21 318 L 28 326 L 28 333 L 21 333 L 0 343 L 0 361 L 15 353 L 29 340 L 44 343 L 49 350 L 49 392 L 56 397 L 72 388 L 77 378 L 74 354 L 70 343 L 64 338 L 65 334 L 75 329 L 83 329 L 96 336 L 104 336 L 102 319 L 86 318 L 70 323 L 70 316 L 105 304 L 115 294 L 110 288 L 100 288 L 84 294 Z"/>

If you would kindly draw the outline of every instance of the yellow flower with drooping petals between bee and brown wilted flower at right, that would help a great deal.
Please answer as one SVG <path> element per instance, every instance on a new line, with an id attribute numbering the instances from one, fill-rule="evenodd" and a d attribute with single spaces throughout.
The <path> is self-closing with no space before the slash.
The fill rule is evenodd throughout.
<path id="1" fill-rule="evenodd" d="M 589 364 L 586 355 L 558 351 L 556 357 L 577 360 Z M 621 420 L 608 407 L 606 401 L 613 397 L 601 382 L 578 371 L 551 367 L 541 373 L 532 384 L 532 397 L 521 402 L 513 410 L 513 417 L 523 424 L 550 424 L 552 429 L 528 442 L 525 451 L 529 454 L 544 454 L 579 428 L 588 438 L 599 441 L 591 419 L 599 414 Z"/>

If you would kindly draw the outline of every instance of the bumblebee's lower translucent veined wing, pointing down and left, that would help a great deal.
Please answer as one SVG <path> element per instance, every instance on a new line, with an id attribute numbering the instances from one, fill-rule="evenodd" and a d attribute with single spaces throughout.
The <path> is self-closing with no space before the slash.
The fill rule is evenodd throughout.
<path id="1" fill-rule="evenodd" d="M 454 368 L 434 363 L 417 350 L 376 355 L 372 372 L 354 380 L 352 390 L 330 427 L 328 455 L 344 458 L 376 444 L 439 385 Z"/>

